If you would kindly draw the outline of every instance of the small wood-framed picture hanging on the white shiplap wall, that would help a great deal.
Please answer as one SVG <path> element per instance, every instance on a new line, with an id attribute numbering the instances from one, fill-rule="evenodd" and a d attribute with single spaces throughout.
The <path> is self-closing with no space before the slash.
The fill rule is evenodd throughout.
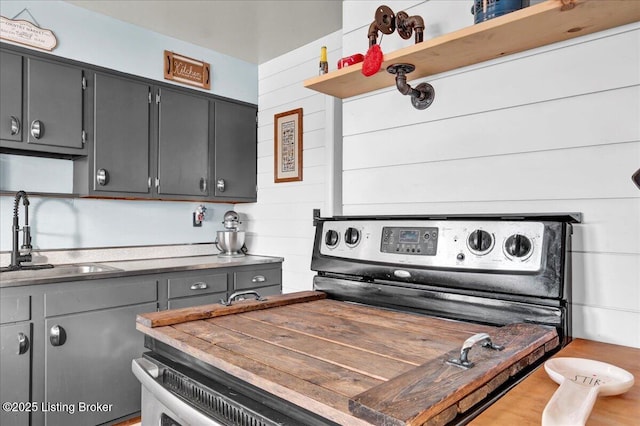
<path id="1" fill-rule="evenodd" d="M 273 116 L 273 180 L 302 180 L 302 108 Z"/>

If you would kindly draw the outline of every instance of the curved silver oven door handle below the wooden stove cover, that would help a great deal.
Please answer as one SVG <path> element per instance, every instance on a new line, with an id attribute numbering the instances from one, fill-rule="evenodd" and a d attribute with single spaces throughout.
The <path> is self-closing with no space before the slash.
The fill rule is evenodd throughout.
<path id="1" fill-rule="evenodd" d="M 186 425 L 224 426 L 212 418 L 202 414 L 180 398 L 163 388 L 155 379 L 160 375 L 158 366 L 144 358 L 131 361 L 131 371 L 140 380 L 142 386 L 169 411 L 178 417 L 176 419 Z"/>

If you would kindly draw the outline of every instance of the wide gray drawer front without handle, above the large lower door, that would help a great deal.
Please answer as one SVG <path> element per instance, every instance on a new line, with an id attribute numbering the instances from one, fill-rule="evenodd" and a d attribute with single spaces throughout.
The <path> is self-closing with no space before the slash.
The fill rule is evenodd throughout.
<path id="1" fill-rule="evenodd" d="M 114 308 L 137 303 L 155 302 L 158 299 L 156 280 L 98 280 L 77 285 L 67 285 L 62 290 L 44 295 L 46 317 L 74 312 Z M 86 287 L 82 287 L 86 285 Z"/>

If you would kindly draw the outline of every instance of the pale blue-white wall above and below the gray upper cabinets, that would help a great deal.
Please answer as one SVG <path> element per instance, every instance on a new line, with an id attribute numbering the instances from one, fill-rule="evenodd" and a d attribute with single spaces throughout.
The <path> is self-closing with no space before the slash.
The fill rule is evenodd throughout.
<path id="1" fill-rule="evenodd" d="M 58 39 L 51 54 L 163 81 L 162 52 L 171 50 L 209 62 L 211 94 L 257 103 L 258 67 L 166 37 L 62 1 L 2 1 L 13 18 L 27 8 Z M 17 19 L 31 20 L 27 13 Z M 4 41 L 4 40 L 3 40 Z M 71 193 L 69 160 L 0 155 L 0 190 Z M 191 226 L 195 202 L 34 198 L 30 210 L 37 249 L 118 247 L 212 242 L 222 216 L 233 206 L 206 204 L 204 226 Z M 0 196 L 0 250 L 11 249 L 13 197 Z M 22 222 L 21 222 L 22 223 Z"/>

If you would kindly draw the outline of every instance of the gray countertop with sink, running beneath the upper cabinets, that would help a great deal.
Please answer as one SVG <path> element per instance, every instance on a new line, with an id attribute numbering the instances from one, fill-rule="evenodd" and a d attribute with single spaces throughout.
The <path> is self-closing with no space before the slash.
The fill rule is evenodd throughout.
<path id="1" fill-rule="evenodd" d="M 117 278 L 131 275 L 180 272 L 280 263 L 281 257 L 217 255 L 142 259 L 56 265 L 52 269 L 21 270 L 0 273 L 0 288 L 56 282 Z"/>

